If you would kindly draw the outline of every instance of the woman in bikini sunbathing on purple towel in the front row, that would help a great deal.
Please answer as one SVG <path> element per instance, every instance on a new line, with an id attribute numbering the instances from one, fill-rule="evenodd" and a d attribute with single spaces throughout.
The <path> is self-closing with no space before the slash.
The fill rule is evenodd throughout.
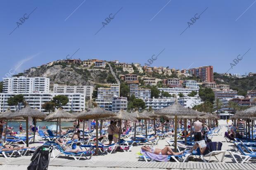
<path id="1" fill-rule="evenodd" d="M 156 155 L 182 155 L 183 151 L 181 152 L 174 152 L 171 147 L 164 147 L 164 149 L 157 149 L 154 147 L 149 147 L 147 145 L 141 147 L 142 150 L 151 152 Z"/>

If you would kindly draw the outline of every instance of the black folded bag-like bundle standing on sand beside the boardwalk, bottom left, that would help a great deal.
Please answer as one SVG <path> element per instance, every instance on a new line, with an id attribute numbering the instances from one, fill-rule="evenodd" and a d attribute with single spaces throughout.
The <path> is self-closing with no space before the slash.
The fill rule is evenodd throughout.
<path id="1" fill-rule="evenodd" d="M 49 147 L 49 149 L 46 146 L 40 146 L 37 147 L 32 158 L 31 163 L 28 166 L 27 170 L 47 170 L 50 157 L 49 153 L 52 152 L 53 147 Z"/>

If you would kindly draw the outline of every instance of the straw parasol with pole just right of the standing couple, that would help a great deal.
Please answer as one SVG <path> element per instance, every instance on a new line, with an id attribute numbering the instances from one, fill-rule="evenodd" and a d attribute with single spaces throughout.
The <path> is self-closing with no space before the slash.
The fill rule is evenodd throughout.
<path id="1" fill-rule="evenodd" d="M 126 110 L 120 110 L 119 112 L 116 113 L 116 116 L 112 116 L 109 119 L 116 119 L 120 121 L 119 124 L 119 137 L 118 137 L 118 142 L 120 144 L 120 135 L 121 135 L 121 129 L 122 129 L 122 120 L 125 121 L 137 121 L 135 117 L 132 116 L 131 113 L 127 112 Z"/>

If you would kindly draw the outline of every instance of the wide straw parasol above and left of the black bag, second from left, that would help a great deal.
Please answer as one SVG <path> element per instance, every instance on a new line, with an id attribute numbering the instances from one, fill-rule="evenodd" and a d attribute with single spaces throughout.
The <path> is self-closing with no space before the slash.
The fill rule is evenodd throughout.
<path id="1" fill-rule="evenodd" d="M 25 106 L 22 109 L 17 110 L 16 112 L 10 114 L 12 118 L 24 117 L 26 119 L 26 146 L 28 147 L 28 117 L 32 117 L 34 119 L 35 127 L 34 127 L 34 141 L 35 142 L 35 134 L 36 134 L 36 119 L 45 118 L 46 114 L 40 112 L 38 109 L 32 109 L 29 106 Z"/>

